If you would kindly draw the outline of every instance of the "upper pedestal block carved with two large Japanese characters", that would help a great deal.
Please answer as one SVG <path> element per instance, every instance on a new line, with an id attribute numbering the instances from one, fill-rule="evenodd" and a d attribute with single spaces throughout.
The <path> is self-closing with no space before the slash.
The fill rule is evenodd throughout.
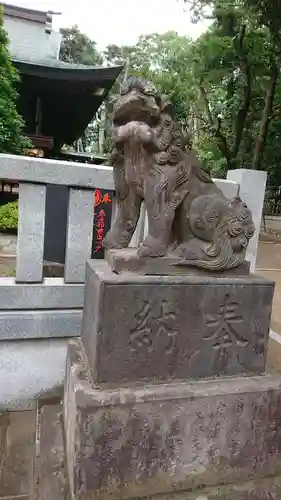
<path id="1" fill-rule="evenodd" d="M 82 341 L 95 383 L 263 373 L 274 285 L 122 276 L 89 261 Z"/>

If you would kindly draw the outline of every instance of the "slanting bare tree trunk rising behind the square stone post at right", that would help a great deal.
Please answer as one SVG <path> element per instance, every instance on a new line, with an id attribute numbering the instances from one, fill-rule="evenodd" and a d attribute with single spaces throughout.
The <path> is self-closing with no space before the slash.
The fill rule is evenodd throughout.
<path id="1" fill-rule="evenodd" d="M 266 92 L 264 108 L 261 115 L 259 135 L 257 137 L 254 149 L 254 155 L 252 161 L 253 170 L 259 170 L 261 168 L 278 76 L 279 76 L 279 68 L 277 67 L 277 64 L 274 62 L 271 66 L 270 82 Z"/>

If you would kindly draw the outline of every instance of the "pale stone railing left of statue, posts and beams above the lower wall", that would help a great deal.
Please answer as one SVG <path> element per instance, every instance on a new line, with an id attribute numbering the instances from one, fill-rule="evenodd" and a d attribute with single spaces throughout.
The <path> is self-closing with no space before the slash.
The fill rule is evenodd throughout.
<path id="1" fill-rule="evenodd" d="M 112 168 L 2 155 L 0 176 L 19 182 L 16 278 L 0 279 L 0 340 L 79 335 L 94 189 L 113 188 Z M 47 184 L 69 187 L 63 279 L 43 279 Z"/>

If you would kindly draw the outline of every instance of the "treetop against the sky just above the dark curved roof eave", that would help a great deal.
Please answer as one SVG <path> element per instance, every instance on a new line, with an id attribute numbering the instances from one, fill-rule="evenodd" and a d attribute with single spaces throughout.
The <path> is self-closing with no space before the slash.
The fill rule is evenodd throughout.
<path id="1" fill-rule="evenodd" d="M 101 65 L 103 62 L 100 52 L 97 50 L 96 42 L 91 40 L 79 30 L 78 26 L 62 28 L 60 59 L 75 64 L 87 66 Z"/>

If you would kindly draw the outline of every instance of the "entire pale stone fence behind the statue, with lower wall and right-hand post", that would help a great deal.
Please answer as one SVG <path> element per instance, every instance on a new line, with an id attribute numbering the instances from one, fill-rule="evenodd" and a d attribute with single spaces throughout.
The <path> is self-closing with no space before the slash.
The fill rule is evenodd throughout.
<path id="1" fill-rule="evenodd" d="M 85 263 L 91 257 L 95 189 L 113 190 L 112 167 L 0 155 L 0 179 L 19 183 L 16 277 L 0 278 L 0 410 L 30 407 L 60 385 L 67 339 L 79 336 Z M 227 198 L 240 193 L 260 224 L 266 174 L 216 179 Z M 43 278 L 46 186 L 69 188 L 63 278 Z M 114 212 L 114 210 L 113 210 Z M 132 245 L 147 231 L 144 208 Z M 255 265 L 257 237 L 249 258 Z M 109 311 L 110 314 L 110 311 Z M 40 342 L 39 342 L 40 340 Z"/>

